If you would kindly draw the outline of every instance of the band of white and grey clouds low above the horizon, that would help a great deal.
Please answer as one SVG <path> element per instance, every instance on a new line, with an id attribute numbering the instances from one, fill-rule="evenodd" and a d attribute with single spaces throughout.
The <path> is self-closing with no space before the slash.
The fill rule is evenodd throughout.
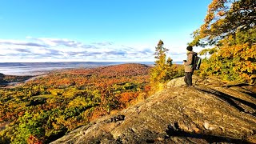
<path id="1" fill-rule="evenodd" d="M 84 43 L 67 38 L 0 39 L 2 62 L 153 62 L 154 46 Z M 170 52 L 180 60 L 184 53 Z"/>

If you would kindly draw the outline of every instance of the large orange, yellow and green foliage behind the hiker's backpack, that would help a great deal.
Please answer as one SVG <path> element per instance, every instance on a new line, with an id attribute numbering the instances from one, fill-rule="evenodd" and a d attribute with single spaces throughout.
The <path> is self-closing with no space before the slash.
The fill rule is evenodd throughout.
<path id="1" fill-rule="evenodd" d="M 202 74 L 255 83 L 256 1 L 213 0 L 205 23 L 194 31 L 192 46 L 213 46 L 202 64 Z"/>

